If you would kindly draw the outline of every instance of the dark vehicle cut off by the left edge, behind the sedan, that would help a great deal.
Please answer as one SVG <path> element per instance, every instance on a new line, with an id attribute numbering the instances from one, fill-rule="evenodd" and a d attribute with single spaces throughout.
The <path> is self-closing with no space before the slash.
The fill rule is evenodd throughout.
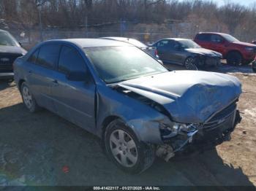
<path id="1" fill-rule="evenodd" d="M 0 79 L 12 79 L 12 63 L 25 54 L 26 50 L 8 31 L 0 30 Z"/>

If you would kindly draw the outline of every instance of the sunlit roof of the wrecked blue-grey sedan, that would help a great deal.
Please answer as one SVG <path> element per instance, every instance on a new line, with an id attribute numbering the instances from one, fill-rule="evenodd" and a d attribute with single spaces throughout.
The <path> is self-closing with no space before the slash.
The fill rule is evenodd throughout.
<path id="1" fill-rule="evenodd" d="M 79 47 L 124 47 L 132 46 L 126 42 L 119 42 L 111 39 L 59 39 L 59 40 L 49 40 L 47 42 L 69 42 L 76 44 Z"/>

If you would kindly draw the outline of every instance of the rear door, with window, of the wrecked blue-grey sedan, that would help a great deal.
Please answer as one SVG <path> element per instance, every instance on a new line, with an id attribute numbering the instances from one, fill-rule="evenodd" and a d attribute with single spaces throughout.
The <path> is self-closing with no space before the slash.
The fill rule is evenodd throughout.
<path id="1" fill-rule="evenodd" d="M 53 82 L 53 71 L 57 67 L 60 44 L 44 44 L 39 47 L 27 61 L 27 82 L 37 104 L 53 111 L 53 99 L 50 85 Z"/>

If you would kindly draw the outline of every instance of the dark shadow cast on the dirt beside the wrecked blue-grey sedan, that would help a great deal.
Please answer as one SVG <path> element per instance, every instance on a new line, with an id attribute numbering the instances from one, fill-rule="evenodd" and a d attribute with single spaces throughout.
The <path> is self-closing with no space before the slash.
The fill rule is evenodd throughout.
<path id="1" fill-rule="evenodd" d="M 130 175 L 107 159 L 96 136 L 46 110 L 2 108 L 0 124 L 0 185 L 253 186 L 216 149 L 169 163 L 157 159 L 143 174 Z"/>

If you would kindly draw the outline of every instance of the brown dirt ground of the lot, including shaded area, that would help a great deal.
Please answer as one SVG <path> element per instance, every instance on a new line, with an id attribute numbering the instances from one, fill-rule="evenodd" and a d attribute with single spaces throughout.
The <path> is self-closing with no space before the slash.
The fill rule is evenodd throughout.
<path id="1" fill-rule="evenodd" d="M 30 114 L 15 84 L 0 81 L 0 185 L 254 185 L 256 186 L 256 74 L 222 66 L 243 83 L 243 117 L 231 141 L 169 163 L 157 159 L 143 174 L 116 168 L 99 139 L 55 114 Z"/>

